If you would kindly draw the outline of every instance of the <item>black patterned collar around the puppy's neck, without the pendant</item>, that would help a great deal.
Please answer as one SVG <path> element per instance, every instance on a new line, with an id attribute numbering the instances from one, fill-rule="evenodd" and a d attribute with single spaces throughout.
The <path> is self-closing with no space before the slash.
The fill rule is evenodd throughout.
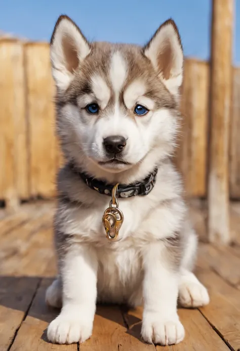
<path id="1" fill-rule="evenodd" d="M 106 182 L 90 177 L 84 172 L 78 171 L 74 165 L 71 165 L 72 171 L 83 179 L 83 181 L 93 190 L 101 194 L 111 196 L 111 190 L 114 185 L 107 184 Z M 131 198 L 136 195 L 147 195 L 153 189 L 156 182 L 156 175 L 158 169 L 155 168 L 143 181 L 135 182 L 129 185 L 119 184 L 117 187 L 118 198 Z"/>

